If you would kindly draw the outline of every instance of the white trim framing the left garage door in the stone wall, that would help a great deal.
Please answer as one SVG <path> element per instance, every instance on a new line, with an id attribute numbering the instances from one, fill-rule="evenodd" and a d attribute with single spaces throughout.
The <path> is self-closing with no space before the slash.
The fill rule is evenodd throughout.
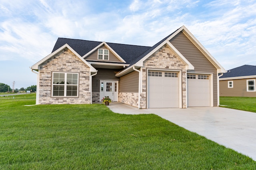
<path id="1" fill-rule="evenodd" d="M 166 71 L 166 72 L 178 72 L 178 82 L 179 84 L 179 108 L 182 108 L 182 70 L 173 70 L 173 69 L 157 69 L 157 68 L 146 68 L 146 82 L 147 82 L 147 92 L 146 92 L 146 98 L 147 98 L 147 109 L 148 109 L 148 70 L 156 70 L 156 71 Z"/>

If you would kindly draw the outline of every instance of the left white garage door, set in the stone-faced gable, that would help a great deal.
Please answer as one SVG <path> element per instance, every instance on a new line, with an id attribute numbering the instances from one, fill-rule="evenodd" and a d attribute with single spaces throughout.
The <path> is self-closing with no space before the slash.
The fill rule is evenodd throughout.
<path id="1" fill-rule="evenodd" d="M 148 71 L 148 108 L 179 107 L 178 72 Z"/>

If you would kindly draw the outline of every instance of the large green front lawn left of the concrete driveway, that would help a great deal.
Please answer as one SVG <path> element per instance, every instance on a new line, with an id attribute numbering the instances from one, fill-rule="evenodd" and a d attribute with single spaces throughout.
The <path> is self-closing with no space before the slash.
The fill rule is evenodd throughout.
<path id="1" fill-rule="evenodd" d="M 256 169 L 256 162 L 158 117 L 103 104 L 0 98 L 0 169 Z"/>

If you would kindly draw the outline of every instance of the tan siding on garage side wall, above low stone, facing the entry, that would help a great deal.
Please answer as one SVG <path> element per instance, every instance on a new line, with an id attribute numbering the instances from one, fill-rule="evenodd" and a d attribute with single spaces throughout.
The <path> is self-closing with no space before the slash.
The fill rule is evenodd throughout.
<path id="1" fill-rule="evenodd" d="M 119 92 L 138 92 L 139 90 L 139 73 L 133 71 L 125 76 L 120 77 Z"/>

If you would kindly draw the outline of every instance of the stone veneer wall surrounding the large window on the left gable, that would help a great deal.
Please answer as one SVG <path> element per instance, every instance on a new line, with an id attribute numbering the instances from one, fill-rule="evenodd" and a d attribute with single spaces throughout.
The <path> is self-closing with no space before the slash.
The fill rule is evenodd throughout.
<path id="1" fill-rule="evenodd" d="M 78 97 L 51 97 L 52 71 L 78 72 Z M 68 48 L 40 65 L 38 104 L 90 104 L 90 68 Z"/>

